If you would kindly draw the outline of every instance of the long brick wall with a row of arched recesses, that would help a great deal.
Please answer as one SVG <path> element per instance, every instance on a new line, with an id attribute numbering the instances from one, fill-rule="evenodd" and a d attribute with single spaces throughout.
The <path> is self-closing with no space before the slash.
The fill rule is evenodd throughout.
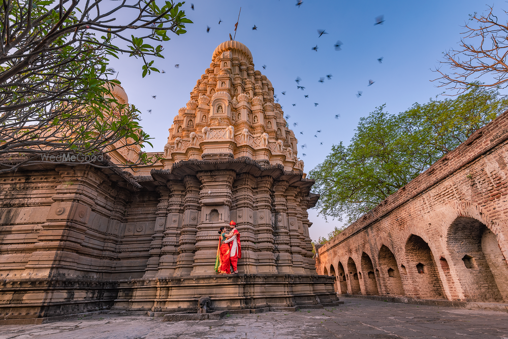
<path id="1" fill-rule="evenodd" d="M 508 302 L 508 112 L 318 249 L 339 293 Z"/>

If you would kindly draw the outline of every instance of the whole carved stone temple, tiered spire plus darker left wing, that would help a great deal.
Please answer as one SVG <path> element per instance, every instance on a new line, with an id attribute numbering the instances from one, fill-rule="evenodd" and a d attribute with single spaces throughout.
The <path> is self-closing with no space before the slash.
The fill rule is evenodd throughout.
<path id="1" fill-rule="evenodd" d="M 128 103 L 120 86 L 113 95 Z M 110 155 L 120 163 L 139 152 Z M 307 209 L 319 195 L 245 45 L 215 49 L 157 154 L 139 171 L 55 162 L 0 175 L 0 323 L 190 312 L 201 296 L 212 310 L 338 300 L 312 259 Z M 217 230 L 230 220 L 239 274 L 217 275 Z"/>

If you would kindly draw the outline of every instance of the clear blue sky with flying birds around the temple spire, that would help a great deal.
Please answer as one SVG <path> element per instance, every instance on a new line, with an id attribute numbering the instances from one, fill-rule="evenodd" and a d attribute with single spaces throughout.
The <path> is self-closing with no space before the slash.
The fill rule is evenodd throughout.
<path id="1" fill-rule="evenodd" d="M 291 116 L 288 122 L 299 145 L 307 145 L 303 152 L 298 149 L 305 172 L 322 162 L 333 144 L 347 145 L 359 119 L 377 106 L 386 104 L 386 110 L 396 114 L 445 91 L 430 81 L 438 78 L 432 70 L 440 66 L 442 52 L 458 47 L 468 14 L 485 12 L 490 5 L 502 21 L 501 10 L 508 8 L 504 1 L 478 0 L 304 0 L 300 8 L 296 0 L 193 3 L 194 11 L 190 2 L 183 9 L 194 24 L 187 24 L 184 35 L 170 35 L 171 40 L 163 44 L 165 59 L 155 60 L 165 74 L 143 79 L 140 60 L 126 55 L 112 60 L 129 102 L 142 112 L 143 129 L 154 138 L 154 148 L 145 150 L 163 151 L 168 128 L 209 67 L 213 50 L 229 40 L 229 33 L 234 35 L 241 7 L 235 40 L 250 49 L 256 69 L 271 81 L 284 114 Z M 384 15 L 385 22 L 374 25 L 379 15 Z M 257 30 L 251 29 L 254 25 Z M 328 34 L 318 38 L 317 29 L 326 29 Z M 334 50 L 337 40 L 343 43 L 341 51 Z M 316 45 L 317 52 L 312 50 Z M 328 74 L 331 80 L 326 79 Z M 297 77 L 304 91 L 297 89 Z M 321 77 L 324 83 L 319 82 Z M 372 86 L 367 86 L 369 79 L 374 81 Z M 358 91 L 363 91 L 360 98 L 355 95 Z M 322 132 L 314 138 L 317 130 Z M 342 226 L 330 219 L 325 222 L 315 210 L 309 210 L 309 219 L 313 240 Z"/>

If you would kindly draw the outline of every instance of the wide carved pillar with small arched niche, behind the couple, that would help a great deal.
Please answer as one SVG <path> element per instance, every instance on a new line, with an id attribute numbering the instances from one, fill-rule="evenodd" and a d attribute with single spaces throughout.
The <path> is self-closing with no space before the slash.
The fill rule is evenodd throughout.
<path id="1" fill-rule="evenodd" d="M 215 275 L 219 228 L 229 225 L 235 171 L 200 172 L 201 217 L 196 233 L 196 254 L 191 276 Z"/>

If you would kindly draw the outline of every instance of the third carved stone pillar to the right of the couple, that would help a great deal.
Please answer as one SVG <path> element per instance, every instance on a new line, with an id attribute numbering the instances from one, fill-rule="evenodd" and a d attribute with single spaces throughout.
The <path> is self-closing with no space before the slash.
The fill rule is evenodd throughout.
<path id="1" fill-rule="evenodd" d="M 275 264 L 280 274 L 293 273 L 293 261 L 291 260 L 291 247 L 288 229 L 288 207 L 285 191 L 288 188 L 287 181 L 277 181 L 273 185 L 274 200 L 274 231 L 275 231 Z"/>

